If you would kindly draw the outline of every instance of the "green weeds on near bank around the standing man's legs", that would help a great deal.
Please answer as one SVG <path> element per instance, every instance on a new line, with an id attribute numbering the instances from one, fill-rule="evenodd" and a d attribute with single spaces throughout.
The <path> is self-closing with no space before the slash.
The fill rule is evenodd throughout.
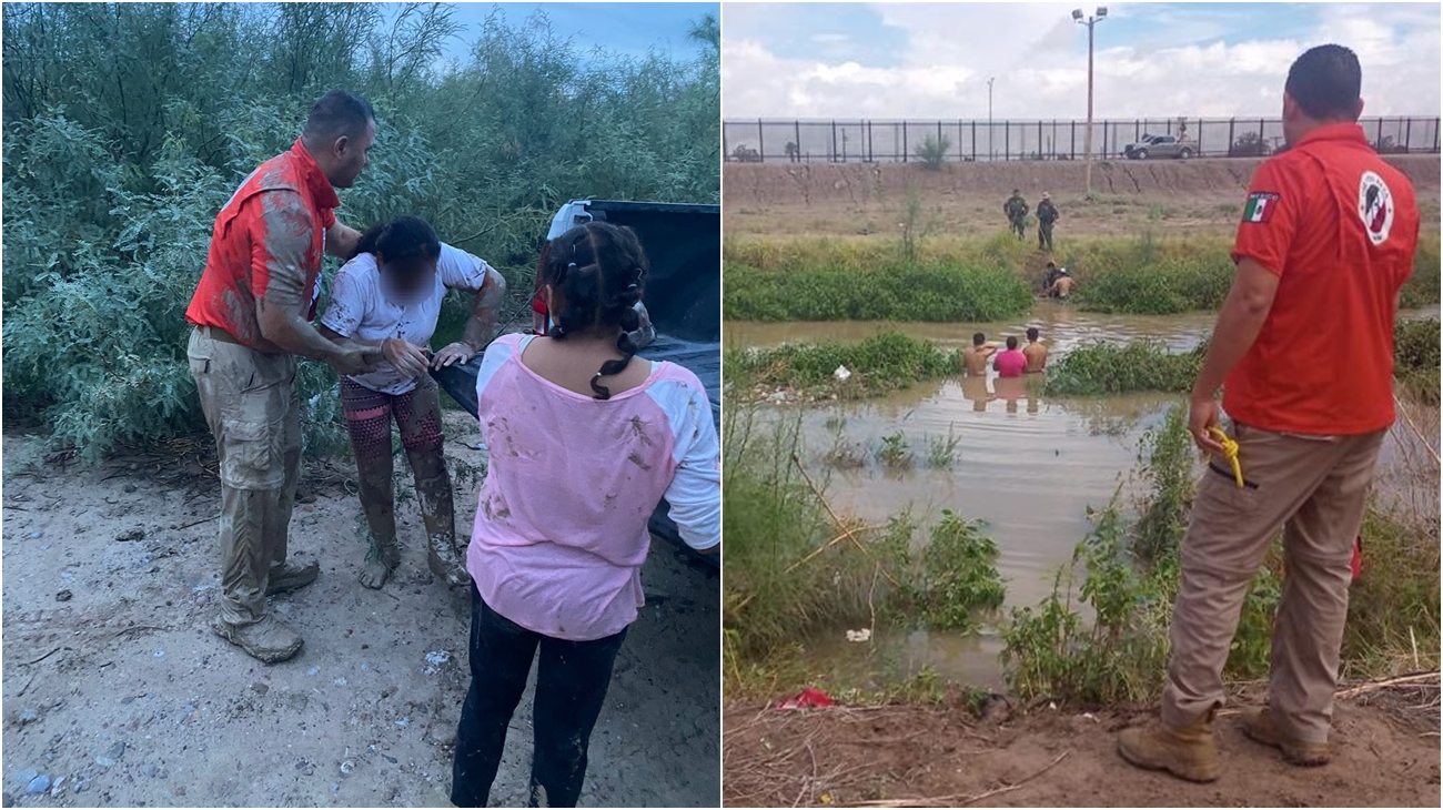
<path id="1" fill-rule="evenodd" d="M 1177 549 L 1195 476 L 1183 408 L 1144 440 L 1149 494 L 1127 520 L 1114 500 L 1095 513 L 1094 532 L 1058 574 L 1053 594 L 1013 611 L 1003 662 L 1010 689 L 1075 706 L 1153 700 L 1163 685 L 1177 594 Z M 1410 470 L 1421 491 L 1437 491 L 1436 464 Z M 1364 520 L 1365 574 L 1352 587 L 1343 640 L 1345 679 L 1388 677 L 1439 666 L 1439 513 L 1374 499 Z M 1273 617 L 1281 600 L 1281 542 L 1253 581 L 1228 656 L 1231 682 L 1266 677 Z M 1076 604 L 1092 608 L 1085 624 Z"/>

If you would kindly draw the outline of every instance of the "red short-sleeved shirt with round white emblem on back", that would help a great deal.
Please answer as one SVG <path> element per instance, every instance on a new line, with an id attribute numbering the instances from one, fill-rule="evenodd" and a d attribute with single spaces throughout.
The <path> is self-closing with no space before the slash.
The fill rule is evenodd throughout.
<path id="1" fill-rule="evenodd" d="M 1277 297 L 1228 375 L 1224 409 L 1280 432 L 1391 425 L 1394 303 L 1417 241 L 1413 184 L 1374 153 L 1362 127 L 1319 127 L 1263 161 L 1232 257 L 1276 274 Z"/>

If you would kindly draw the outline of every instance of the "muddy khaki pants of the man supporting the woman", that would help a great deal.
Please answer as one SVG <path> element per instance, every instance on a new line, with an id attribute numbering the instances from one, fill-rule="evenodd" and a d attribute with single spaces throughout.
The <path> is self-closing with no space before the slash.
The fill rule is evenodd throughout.
<path id="1" fill-rule="evenodd" d="M 273 565 L 286 562 L 300 473 L 296 357 L 261 355 L 196 327 L 188 350 L 221 464 L 221 618 L 266 617 Z"/>

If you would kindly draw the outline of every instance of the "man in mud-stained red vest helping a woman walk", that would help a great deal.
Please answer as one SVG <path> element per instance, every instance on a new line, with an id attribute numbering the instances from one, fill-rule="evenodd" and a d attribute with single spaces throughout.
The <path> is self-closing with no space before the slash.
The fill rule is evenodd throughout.
<path id="1" fill-rule="evenodd" d="M 335 189 L 355 183 L 374 138 L 364 99 L 332 91 L 316 101 L 290 151 L 253 172 L 215 218 L 186 310 L 190 373 L 221 467 L 222 601 L 211 628 L 266 663 L 303 644 L 267 613 L 267 592 L 309 585 L 319 571 L 286 559 L 300 470 L 296 356 L 341 375 L 367 372 L 377 359 L 310 326 L 322 255 L 349 257 L 361 236 L 336 221 Z"/>

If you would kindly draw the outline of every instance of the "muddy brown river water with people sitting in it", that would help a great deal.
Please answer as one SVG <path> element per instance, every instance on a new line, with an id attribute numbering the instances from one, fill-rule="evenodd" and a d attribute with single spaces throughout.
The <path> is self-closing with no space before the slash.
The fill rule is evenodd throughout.
<path id="1" fill-rule="evenodd" d="M 1437 317 L 1439 310 L 1410 311 L 1408 317 Z M 1001 342 L 1022 337 L 1029 326 L 1056 359 L 1088 340 L 1150 337 L 1177 352 L 1198 344 L 1212 329 L 1214 316 L 1131 317 L 1082 313 L 1039 304 L 1026 319 L 994 324 L 879 324 L 879 323 L 729 323 L 726 344 L 773 346 L 786 342 L 860 340 L 880 329 L 896 329 L 947 347 L 970 344 L 974 331 Z M 922 383 L 885 399 L 820 405 L 801 411 L 808 467 L 824 468 L 824 457 L 846 448 L 863 457 L 860 467 L 828 467 L 827 497 L 840 513 L 869 523 L 885 522 L 909 509 L 931 525 L 942 509 L 987 523 L 1001 555 L 1007 607 L 1035 605 L 1052 591 L 1053 577 L 1087 535 L 1087 509 L 1105 506 L 1118 487 L 1136 494 L 1144 431 L 1162 422 L 1182 396 L 1130 395 L 1051 399 L 1040 379 L 1013 385 L 988 372 L 987 379 L 947 379 Z M 773 409 L 795 417 L 795 406 Z M 883 437 L 900 432 L 915 463 L 898 470 L 880 464 Z M 955 441 L 949 468 L 928 463 L 928 447 Z M 1390 447 L 1392 442 L 1390 442 Z M 1385 451 L 1387 453 L 1387 451 Z M 837 627 L 808 643 L 818 667 L 844 680 L 883 686 L 924 667 L 978 686 L 1001 686 L 996 636 L 961 636 L 879 628 L 870 644 L 850 643 Z"/>

